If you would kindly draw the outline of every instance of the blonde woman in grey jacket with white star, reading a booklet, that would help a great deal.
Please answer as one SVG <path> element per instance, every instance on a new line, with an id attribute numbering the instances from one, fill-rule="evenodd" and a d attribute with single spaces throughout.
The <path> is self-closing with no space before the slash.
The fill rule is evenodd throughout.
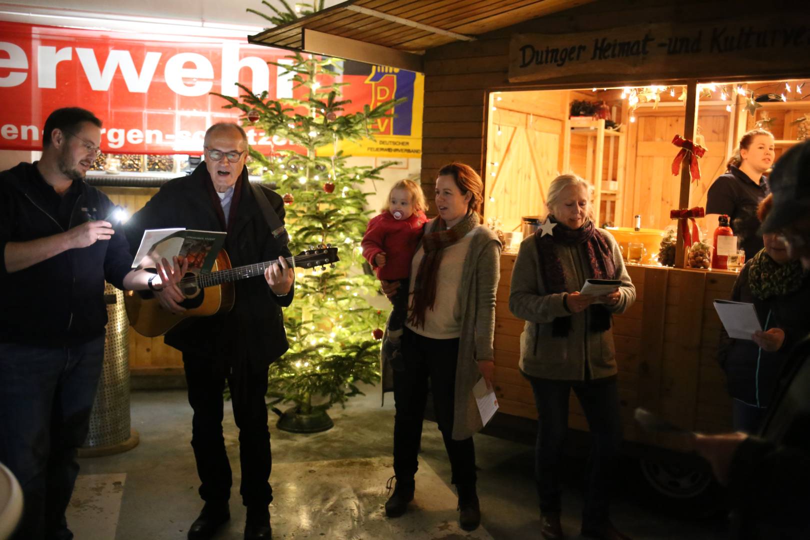
<path id="1" fill-rule="evenodd" d="M 538 411 L 535 480 L 544 538 L 563 538 L 560 471 L 571 389 L 585 411 L 593 447 L 582 510 L 582 535 L 627 538 L 609 520 L 613 458 L 621 443 L 612 313 L 636 300 L 619 244 L 591 221 L 589 185 L 557 176 L 546 198 L 553 223 L 520 244 L 512 271 L 509 310 L 526 322 L 520 371 L 531 383 Z M 619 279 L 607 296 L 578 293 L 586 279 Z M 597 301 L 601 302 L 599 304 Z"/>

